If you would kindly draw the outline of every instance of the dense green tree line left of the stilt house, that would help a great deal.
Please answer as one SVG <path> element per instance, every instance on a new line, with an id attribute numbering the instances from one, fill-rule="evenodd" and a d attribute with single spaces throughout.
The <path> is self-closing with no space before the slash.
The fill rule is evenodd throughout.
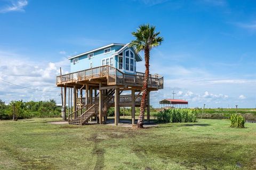
<path id="1" fill-rule="evenodd" d="M 55 100 L 49 101 L 11 101 L 5 104 L 0 100 L 0 119 L 28 119 L 28 118 L 61 117 L 61 107 L 58 107 Z"/>

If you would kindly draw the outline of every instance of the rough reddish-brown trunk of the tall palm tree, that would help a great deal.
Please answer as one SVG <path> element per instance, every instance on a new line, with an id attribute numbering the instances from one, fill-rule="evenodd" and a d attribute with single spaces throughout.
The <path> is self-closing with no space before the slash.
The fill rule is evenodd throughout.
<path id="1" fill-rule="evenodd" d="M 147 102 L 146 100 L 148 97 L 149 48 L 145 49 L 145 66 L 146 66 L 146 70 L 145 70 L 145 77 L 143 79 L 140 116 L 137 123 L 138 128 L 143 128 L 144 119 L 145 119 L 145 108 L 146 108 L 146 102 Z"/>

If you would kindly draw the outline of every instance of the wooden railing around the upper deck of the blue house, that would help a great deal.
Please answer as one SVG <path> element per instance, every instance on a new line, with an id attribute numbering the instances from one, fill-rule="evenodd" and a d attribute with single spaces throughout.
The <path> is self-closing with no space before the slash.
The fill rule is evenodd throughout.
<path id="1" fill-rule="evenodd" d="M 107 78 L 108 85 L 132 85 L 142 86 L 145 74 L 142 72 L 136 72 L 135 75 L 125 74 L 124 72 L 111 67 L 111 66 L 100 66 L 83 71 L 72 72 L 70 74 L 57 76 L 57 85 L 66 83 L 76 83 L 83 80 L 89 80 L 93 78 Z M 148 86 L 156 87 L 159 89 L 163 88 L 163 77 L 160 75 L 149 75 Z"/>

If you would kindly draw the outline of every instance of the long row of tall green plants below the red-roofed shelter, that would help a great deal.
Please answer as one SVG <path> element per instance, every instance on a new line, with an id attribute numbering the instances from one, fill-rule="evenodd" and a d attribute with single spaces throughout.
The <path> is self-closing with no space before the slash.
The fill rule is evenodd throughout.
<path id="1" fill-rule="evenodd" d="M 165 109 L 156 115 L 157 121 L 162 123 L 196 122 L 197 110 L 191 109 Z"/>

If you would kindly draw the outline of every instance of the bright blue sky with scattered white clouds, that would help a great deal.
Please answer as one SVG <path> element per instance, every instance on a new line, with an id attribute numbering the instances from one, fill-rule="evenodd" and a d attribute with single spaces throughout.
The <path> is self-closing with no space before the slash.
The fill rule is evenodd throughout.
<path id="1" fill-rule="evenodd" d="M 110 43 L 129 43 L 139 25 L 165 41 L 151 52 L 150 72 L 164 76 L 151 104 L 175 98 L 190 107 L 256 107 L 256 2 L 225 0 L 0 0 L 0 78 L 39 90 L 55 87 L 67 57 Z M 143 54 L 142 54 L 143 55 Z M 138 66 L 143 71 L 143 62 Z M 0 81 L 0 99 L 48 100 L 59 93 Z"/>

